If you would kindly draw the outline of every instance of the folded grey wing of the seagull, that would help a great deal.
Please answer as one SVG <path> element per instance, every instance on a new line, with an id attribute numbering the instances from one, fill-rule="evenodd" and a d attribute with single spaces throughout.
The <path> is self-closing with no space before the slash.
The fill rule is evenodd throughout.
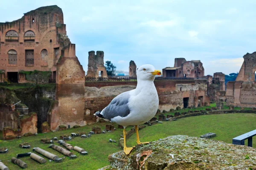
<path id="1" fill-rule="evenodd" d="M 130 113 L 130 108 L 128 106 L 130 91 L 126 91 L 122 94 L 116 96 L 110 104 L 103 110 L 102 115 L 108 120 L 116 116 L 125 117 Z"/>

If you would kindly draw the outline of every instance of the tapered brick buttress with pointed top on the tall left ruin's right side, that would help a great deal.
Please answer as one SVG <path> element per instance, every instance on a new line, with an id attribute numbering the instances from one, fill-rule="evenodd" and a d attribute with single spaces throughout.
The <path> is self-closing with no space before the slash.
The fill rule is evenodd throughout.
<path id="1" fill-rule="evenodd" d="M 70 45 L 57 63 L 55 103 L 49 111 L 51 130 L 58 129 L 58 125 L 71 127 L 86 125 L 84 121 L 85 73 L 78 58 L 72 52 L 75 51 L 74 48 L 75 46 Z"/>

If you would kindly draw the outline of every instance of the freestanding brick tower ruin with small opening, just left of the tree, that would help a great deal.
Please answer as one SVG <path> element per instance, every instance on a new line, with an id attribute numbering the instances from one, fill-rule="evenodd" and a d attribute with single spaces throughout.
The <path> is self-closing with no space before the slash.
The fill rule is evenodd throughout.
<path id="1" fill-rule="evenodd" d="M 104 52 L 103 51 L 89 51 L 88 57 L 88 71 L 86 77 L 98 78 L 108 77 L 106 68 L 104 66 Z"/>

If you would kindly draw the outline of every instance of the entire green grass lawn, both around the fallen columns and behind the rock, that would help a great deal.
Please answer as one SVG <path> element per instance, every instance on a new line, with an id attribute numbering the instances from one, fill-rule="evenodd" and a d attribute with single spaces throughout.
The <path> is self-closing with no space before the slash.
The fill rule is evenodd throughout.
<path id="1" fill-rule="evenodd" d="M 216 115 L 203 115 L 203 116 L 192 116 L 183 119 L 178 119 L 177 121 L 163 122 L 163 124 L 156 124 L 153 126 L 147 126 L 143 130 L 140 130 L 140 141 L 155 141 L 158 139 L 163 139 L 167 136 L 172 135 L 189 135 L 189 136 L 201 136 L 208 132 L 216 133 L 217 136 L 213 138 L 214 140 L 220 140 L 227 143 L 232 143 L 232 139 L 243 133 L 247 133 L 251 130 L 256 129 L 256 114 L 254 113 L 229 113 L 229 114 L 216 114 Z M 96 124 L 103 130 L 106 123 Z M 38 136 L 22 137 L 21 139 L 15 139 L 11 141 L 1 141 L 0 147 L 8 147 L 9 153 L 0 154 L 0 160 L 6 164 L 10 170 L 20 169 L 17 165 L 10 162 L 13 156 L 17 153 L 25 153 L 32 151 L 31 149 L 21 149 L 18 144 L 21 142 L 30 142 L 32 147 L 41 147 L 57 156 L 62 155 L 51 148 L 48 148 L 49 144 L 41 144 L 40 139 L 44 137 L 58 137 L 61 134 L 69 134 L 72 132 L 85 131 L 89 132 L 93 126 L 87 125 L 77 129 L 68 129 L 65 131 L 57 131 L 45 134 L 38 134 Z M 21 158 L 28 164 L 28 170 L 96 170 L 100 167 L 104 167 L 109 164 L 108 155 L 121 150 L 118 146 L 120 134 L 122 134 L 122 129 L 118 129 L 115 125 L 116 130 L 114 132 L 106 134 L 92 135 L 90 138 L 81 139 L 76 137 L 69 141 L 69 144 L 73 146 L 77 145 L 88 151 L 87 156 L 81 156 L 76 151 L 73 151 L 78 158 L 69 159 L 66 157 L 63 162 L 55 163 L 50 162 L 47 159 L 45 164 L 39 164 L 29 157 Z M 129 127 L 128 129 L 130 129 Z M 116 140 L 116 143 L 109 143 L 109 139 Z M 256 147 L 256 138 L 253 139 L 253 147 Z M 132 146 L 136 144 L 136 135 L 132 135 L 128 141 L 127 145 Z"/>

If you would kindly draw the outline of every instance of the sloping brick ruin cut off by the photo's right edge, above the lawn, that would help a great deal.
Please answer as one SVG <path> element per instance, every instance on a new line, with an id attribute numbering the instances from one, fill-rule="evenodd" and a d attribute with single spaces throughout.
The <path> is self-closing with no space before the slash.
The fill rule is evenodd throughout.
<path id="1" fill-rule="evenodd" d="M 256 52 L 244 55 L 236 81 L 227 82 L 226 98 L 227 105 L 238 107 L 256 107 Z"/>

